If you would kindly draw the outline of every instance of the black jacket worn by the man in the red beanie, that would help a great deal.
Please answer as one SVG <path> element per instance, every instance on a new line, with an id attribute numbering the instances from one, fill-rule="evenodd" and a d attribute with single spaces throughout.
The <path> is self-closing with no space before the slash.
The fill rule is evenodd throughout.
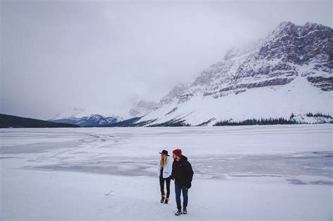
<path id="1" fill-rule="evenodd" d="M 174 160 L 171 177 L 174 178 L 176 185 L 190 189 L 193 170 L 186 156 L 182 155 L 179 161 Z"/>

